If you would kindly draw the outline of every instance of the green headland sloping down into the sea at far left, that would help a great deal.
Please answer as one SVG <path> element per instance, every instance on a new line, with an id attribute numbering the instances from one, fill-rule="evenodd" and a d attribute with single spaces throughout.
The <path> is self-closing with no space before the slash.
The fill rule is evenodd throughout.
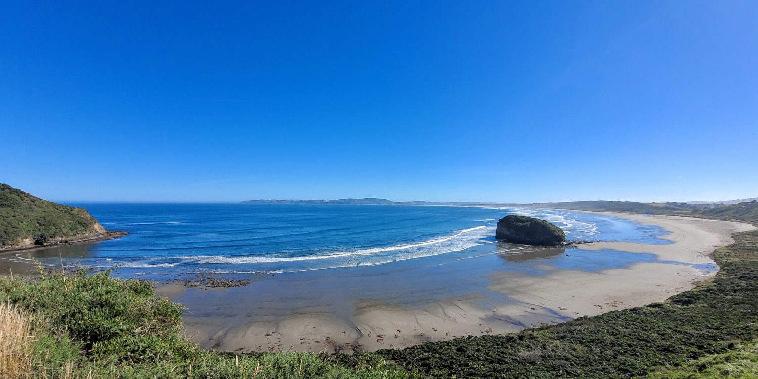
<path id="1" fill-rule="evenodd" d="M 0 183 L 0 250 L 105 236 L 83 208 L 56 204 Z"/>

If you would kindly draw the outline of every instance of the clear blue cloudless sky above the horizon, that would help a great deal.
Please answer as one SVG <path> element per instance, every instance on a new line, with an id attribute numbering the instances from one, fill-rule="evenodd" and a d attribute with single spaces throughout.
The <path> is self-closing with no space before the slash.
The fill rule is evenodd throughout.
<path id="1" fill-rule="evenodd" d="M 758 2 L 5 2 L 53 200 L 758 196 Z"/>

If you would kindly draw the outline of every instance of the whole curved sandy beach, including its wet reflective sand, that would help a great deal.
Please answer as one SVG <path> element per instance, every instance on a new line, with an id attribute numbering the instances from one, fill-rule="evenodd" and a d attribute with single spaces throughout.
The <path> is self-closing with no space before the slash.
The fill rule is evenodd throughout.
<path id="1" fill-rule="evenodd" d="M 401 348 L 660 302 L 713 277 L 709 254 L 731 243 L 731 233 L 753 230 L 749 224 L 698 218 L 603 215 L 662 227 L 671 243 L 586 243 L 459 258 L 434 267 L 424 266 L 421 258 L 260 276 L 242 287 L 186 288 L 174 282 L 156 290 L 187 307 L 186 333 L 205 348 Z M 603 259 L 615 268 L 587 268 Z M 501 262 L 509 269 L 497 269 Z"/>

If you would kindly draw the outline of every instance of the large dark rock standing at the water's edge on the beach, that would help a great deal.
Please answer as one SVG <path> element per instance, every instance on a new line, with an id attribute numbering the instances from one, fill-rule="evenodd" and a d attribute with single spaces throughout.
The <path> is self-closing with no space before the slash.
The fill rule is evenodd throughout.
<path id="1" fill-rule="evenodd" d="M 555 246 L 564 243 L 566 234 L 561 228 L 539 218 L 510 215 L 497 221 L 497 238 L 512 243 Z"/>

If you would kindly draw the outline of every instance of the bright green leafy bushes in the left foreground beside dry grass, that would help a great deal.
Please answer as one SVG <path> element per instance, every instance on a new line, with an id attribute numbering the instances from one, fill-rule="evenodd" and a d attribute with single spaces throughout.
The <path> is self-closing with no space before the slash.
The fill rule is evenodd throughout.
<path id="1" fill-rule="evenodd" d="M 0 301 L 33 315 L 37 377 L 412 377 L 371 354 L 346 367 L 325 354 L 199 349 L 181 335 L 179 305 L 155 296 L 149 283 L 108 274 L 0 277 Z"/>

